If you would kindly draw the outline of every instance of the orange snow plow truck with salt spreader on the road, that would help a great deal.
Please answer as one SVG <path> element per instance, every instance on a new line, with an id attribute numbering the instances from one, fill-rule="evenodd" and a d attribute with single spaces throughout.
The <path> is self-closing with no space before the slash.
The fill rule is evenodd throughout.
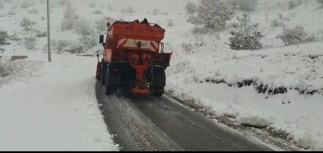
<path id="1" fill-rule="evenodd" d="M 105 94 L 128 87 L 139 95 L 161 96 L 166 85 L 165 70 L 170 66 L 172 53 L 164 53 L 165 29 L 144 19 L 132 22 L 108 23 L 101 34 L 103 58 L 98 57 L 96 79 L 105 86 Z"/>

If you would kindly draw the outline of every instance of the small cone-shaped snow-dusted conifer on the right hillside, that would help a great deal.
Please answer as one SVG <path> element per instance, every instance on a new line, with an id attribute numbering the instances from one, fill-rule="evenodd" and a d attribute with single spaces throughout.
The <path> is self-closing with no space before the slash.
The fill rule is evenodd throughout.
<path id="1" fill-rule="evenodd" d="M 237 20 L 239 23 L 233 24 L 236 31 L 230 32 L 233 35 L 229 38 L 230 48 L 235 50 L 261 48 L 260 39 L 264 35 L 258 30 L 259 23 L 251 23 L 247 13 L 243 13 L 242 18 L 237 17 Z"/>

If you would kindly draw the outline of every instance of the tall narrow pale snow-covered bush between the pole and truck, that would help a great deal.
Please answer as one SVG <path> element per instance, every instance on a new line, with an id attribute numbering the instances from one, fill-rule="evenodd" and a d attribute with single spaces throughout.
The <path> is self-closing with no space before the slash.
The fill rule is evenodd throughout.
<path id="1" fill-rule="evenodd" d="M 76 19 L 74 18 L 76 9 L 74 8 L 74 5 L 70 2 L 67 1 L 66 5 L 64 7 L 64 18 L 61 23 L 61 28 L 63 30 L 70 30 L 74 28 Z"/>

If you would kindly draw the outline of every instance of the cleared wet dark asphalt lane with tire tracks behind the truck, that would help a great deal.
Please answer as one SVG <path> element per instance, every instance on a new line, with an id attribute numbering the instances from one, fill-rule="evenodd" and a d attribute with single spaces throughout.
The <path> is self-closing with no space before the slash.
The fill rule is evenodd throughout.
<path id="1" fill-rule="evenodd" d="M 105 123 L 122 151 L 265 151 L 272 150 L 219 127 L 169 98 L 132 95 L 118 90 L 96 96 Z"/>

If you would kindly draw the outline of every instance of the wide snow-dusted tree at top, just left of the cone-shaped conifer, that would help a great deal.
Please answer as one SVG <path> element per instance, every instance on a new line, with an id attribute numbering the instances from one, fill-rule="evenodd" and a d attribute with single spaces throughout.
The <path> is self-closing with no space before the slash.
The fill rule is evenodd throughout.
<path id="1" fill-rule="evenodd" d="M 225 27 L 226 22 L 231 20 L 234 12 L 231 6 L 221 0 L 199 1 L 197 17 L 192 20 L 193 24 L 204 25 L 207 28 Z"/>

